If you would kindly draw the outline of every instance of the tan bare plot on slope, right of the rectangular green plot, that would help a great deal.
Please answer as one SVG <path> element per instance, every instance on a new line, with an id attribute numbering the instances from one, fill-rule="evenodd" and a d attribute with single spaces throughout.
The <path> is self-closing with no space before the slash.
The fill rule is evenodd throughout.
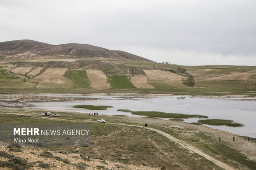
<path id="1" fill-rule="evenodd" d="M 133 86 L 137 88 L 155 88 L 147 83 L 146 75 L 134 75 L 131 79 Z"/>

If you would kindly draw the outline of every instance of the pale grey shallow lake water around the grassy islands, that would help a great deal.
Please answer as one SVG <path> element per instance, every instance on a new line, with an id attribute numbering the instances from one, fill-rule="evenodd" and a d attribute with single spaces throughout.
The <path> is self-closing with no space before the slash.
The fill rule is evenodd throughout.
<path id="1" fill-rule="evenodd" d="M 67 96 L 65 96 L 67 97 Z M 208 119 L 230 119 L 244 124 L 243 127 L 209 126 L 238 135 L 256 138 L 256 98 L 231 97 L 193 97 L 175 95 L 69 95 L 80 98 L 67 102 L 31 102 L 32 108 L 58 111 L 74 111 L 82 113 L 98 112 L 108 115 L 128 115 L 117 112 L 117 109 L 133 111 L 159 111 L 167 113 L 200 114 Z M 81 98 L 83 98 L 81 100 Z M 92 111 L 74 108 L 74 105 L 110 105 L 107 110 Z M 196 122 L 198 119 L 185 119 L 185 122 Z M 208 125 L 207 125 L 208 126 Z"/>

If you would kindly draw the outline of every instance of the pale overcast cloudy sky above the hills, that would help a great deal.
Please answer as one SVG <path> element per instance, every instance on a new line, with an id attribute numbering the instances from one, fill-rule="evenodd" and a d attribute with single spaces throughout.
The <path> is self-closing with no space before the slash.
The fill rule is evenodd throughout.
<path id="1" fill-rule="evenodd" d="M 256 65 L 256 0 L 0 0 L 0 42 L 23 39 L 178 65 Z"/>

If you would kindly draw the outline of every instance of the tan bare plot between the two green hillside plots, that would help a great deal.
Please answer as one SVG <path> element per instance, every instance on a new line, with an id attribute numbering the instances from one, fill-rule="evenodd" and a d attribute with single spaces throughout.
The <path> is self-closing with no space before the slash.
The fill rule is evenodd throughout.
<path id="1" fill-rule="evenodd" d="M 86 74 L 93 88 L 110 88 L 107 77 L 101 70 L 86 70 Z"/>

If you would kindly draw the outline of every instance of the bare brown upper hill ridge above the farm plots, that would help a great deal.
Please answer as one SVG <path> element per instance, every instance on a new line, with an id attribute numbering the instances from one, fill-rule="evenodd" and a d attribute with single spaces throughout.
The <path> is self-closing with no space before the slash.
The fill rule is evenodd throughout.
<path id="1" fill-rule="evenodd" d="M 100 58 L 100 60 L 150 61 L 124 51 L 114 51 L 89 44 L 52 45 L 33 40 L 0 42 L 0 55 L 5 59 L 51 56 L 51 58 Z"/>

